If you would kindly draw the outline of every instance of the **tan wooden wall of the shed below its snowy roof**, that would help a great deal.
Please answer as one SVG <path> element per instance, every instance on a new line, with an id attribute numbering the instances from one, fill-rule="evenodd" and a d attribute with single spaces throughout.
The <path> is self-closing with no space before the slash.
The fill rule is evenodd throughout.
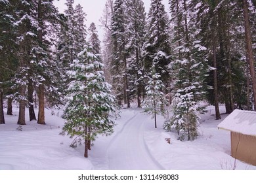
<path id="1" fill-rule="evenodd" d="M 256 166 L 256 137 L 231 131 L 231 156 Z"/>

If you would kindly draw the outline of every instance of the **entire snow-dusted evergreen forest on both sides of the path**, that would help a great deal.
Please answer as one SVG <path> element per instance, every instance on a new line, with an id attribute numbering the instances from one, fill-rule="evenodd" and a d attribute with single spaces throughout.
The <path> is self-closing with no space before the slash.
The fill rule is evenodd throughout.
<path id="1" fill-rule="evenodd" d="M 30 120 L 45 124 L 45 105 L 64 105 L 62 135 L 75 138 L 72 146 L 84 142 L 87 157 L 122 106 L 144 107 L 155 127 L 164 115 L 181 140 L 196 139 L 206 103 L 217 120 L 219 103 L 227 113 L 255 110 L 254 0 L 152 0 L 147 14 L 142 0 L 107 0 L 102 48 L 81 5 L 65 5 L 60 14 L 53 0 L 0 0 L 0 124 L 4 101 L 8 115 L 18 103 L 19 125 L 27 107 Z"/>

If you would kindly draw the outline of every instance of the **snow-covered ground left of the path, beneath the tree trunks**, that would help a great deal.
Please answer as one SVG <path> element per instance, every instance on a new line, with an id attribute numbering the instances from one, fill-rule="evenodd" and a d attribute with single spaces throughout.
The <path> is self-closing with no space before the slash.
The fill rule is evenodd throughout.
<path id="1" fill-rule="evenodd" d="M 58 135 L 64 120 L 51 110 L 45 113 L 47 125 L 17 125 L 17 108 L 13 116 L 5 116 L 0 125 L 0 169 L 93 169 L 91 161 L 69 147 L 70 138 Z"/>

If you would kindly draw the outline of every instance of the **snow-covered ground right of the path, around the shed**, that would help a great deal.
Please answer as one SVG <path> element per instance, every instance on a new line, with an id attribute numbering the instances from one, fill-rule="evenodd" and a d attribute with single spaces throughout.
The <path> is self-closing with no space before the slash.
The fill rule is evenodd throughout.
<path id="1" fill-rule="evenodd" d="M 215 120 L 214 107 L 208 107 L 207 114 L 200 120 L 200 137 L 195 141 L 179 141 L 176 133 L 167 133 L 162 129 L 153 129 L 153 121 L 145 123 L 144 135 L 146 144 L 156 160 L 164 169 L 256 169 L 230 156 L 230 132 L 217 129 L 217 125 L 227 114 L 221 115 L 221 120 Z M 221 107 L 224 113 L 224 107 Z M 158 126 L 163 125 L 163 118 L 158 120 Z M 171 144 L 165 142 L 171 138 Z"/>

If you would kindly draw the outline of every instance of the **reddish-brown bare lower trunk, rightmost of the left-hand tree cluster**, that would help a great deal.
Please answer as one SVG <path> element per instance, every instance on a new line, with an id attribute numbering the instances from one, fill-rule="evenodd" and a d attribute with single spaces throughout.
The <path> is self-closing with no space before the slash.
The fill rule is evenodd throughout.
<path id="1" fill-rule="evenodd" d="M 37 124 L 45 125 L 45 87 L 43 84 L 39 85 L 38 92 L 38 102 L 39 102 L 39 110 L 38 110 L 38 120 Z"/>

